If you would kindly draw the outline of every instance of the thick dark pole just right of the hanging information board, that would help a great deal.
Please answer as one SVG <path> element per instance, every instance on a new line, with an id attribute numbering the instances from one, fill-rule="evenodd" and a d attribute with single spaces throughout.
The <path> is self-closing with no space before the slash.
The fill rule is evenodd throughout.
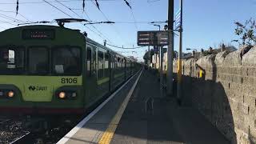
<path id="1" fill-rule="evenodd" d="M 173 59 L 174 59 L 174 0 L 169 0 L 168 4 L 168 30 L 170 32 L 170 44 L 167 51 L 167 79 L 166 94 L 173 95 Z"/>

